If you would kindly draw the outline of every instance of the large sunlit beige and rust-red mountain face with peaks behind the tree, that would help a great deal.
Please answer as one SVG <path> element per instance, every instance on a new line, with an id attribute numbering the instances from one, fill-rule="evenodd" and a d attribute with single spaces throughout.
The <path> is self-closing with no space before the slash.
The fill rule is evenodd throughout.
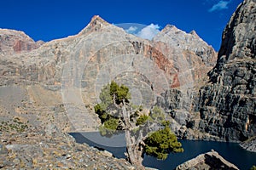
<path id="1" fill-rule="evenodd" d="M 79 122 L 74 128 L 83 130 L 98 125 L 93 105 L 99 102 L 102 87 L 114 80 L 131 89 L 135 105 L 148 109 L 160 105 L 177 132 L 194 117 L 195 91 L 207 82 L 216 58 L 213 48 L 195 31 L 166 26 L 148 41 L 94 16 L 77 35 L 46 42 L 31 52 L 3 54 L 0 84 L 39 84 L 55 91 L 66 113 L 79 113 L 72 116 Z M 64 126 L 58 120 L 56 124 Z"/>

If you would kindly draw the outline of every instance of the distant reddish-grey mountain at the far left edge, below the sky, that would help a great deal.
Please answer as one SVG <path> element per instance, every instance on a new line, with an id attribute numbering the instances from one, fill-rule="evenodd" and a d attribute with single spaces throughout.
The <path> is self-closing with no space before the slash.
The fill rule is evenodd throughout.
<path id="1" fill-rule="evenodd" d="M 0 29 L 0 54 L 28 52 L 42 44 L 42 41 L 34 42 L 23 31 Z"/>

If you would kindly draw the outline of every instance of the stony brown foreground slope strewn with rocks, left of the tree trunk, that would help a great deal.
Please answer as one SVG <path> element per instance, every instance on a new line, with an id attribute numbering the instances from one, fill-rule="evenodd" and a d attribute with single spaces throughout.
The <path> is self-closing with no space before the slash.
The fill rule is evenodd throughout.
<path id="1" fill-rule="evenodd" d="M 55 126 L 0 133 L 3 169 L 136 169 L 107 151 L 78 144 Z"/>

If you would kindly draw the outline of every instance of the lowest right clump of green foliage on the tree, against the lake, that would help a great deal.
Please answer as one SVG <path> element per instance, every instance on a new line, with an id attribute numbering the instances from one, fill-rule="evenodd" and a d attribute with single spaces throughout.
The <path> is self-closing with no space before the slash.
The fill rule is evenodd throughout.
<path id="1" fill-rule="evenodd" d="M 161 160 L 165 160 L 170 152 L 183 152 L 182 144 L 167 126 L 150 134 L 144 142 L 145 153 Z"/>

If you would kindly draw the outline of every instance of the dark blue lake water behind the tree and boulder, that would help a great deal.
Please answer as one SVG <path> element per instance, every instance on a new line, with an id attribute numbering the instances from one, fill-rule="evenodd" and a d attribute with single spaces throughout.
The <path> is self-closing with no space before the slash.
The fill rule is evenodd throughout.
<path id="1" fill-rule="evenodd" d="M 125 158 L 125 135 L 119 134 L 111 138 L 102 137 L 100 133 L 70 133 L 78 143 L 86 143 L 90 146 L 96 146 L 113 153 L 113 156 Z M 256 153 L 243 150 L 239 144 L 212 142 L 212 141 L 194 141 L 180 140 L 183 144 L 183 153 L 170 154 L 165 161 L 160 161 L 153 156 L 144 155 L 143 165 L 146 167 L 155 167 L 158 169 L 173 169 L 177 165 L 188 161 L 202 153 L 210 150 L 218 151 L 225 160 L 235 164 L 240 169 L 249 169 L 256 165 Z"/>

